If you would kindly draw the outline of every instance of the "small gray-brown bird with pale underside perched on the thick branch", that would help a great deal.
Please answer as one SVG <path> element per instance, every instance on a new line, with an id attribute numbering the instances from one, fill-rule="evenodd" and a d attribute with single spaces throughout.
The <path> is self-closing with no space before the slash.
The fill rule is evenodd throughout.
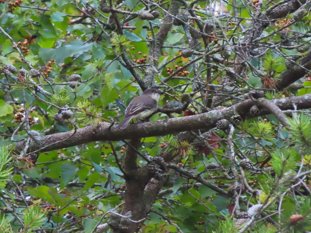
<path id="1" fill-rule="evenodd" d="M 125 129 L 128 122 L 132 119 L 143 119 L 150 116 L 158 108 L 160 95 L 165 93 L 156 88 L 146 89 L 141 95 L 132 99 L 125 109 L 124 119 L 118 125 L 118 128 Z"/>

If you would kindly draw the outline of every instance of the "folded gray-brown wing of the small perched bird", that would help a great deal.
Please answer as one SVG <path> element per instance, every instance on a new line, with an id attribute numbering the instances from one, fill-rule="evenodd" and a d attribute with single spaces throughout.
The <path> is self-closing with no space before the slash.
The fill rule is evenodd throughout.
<path id="1" fill-rule="evenodd" d="M 138 98 L 138 99 L 137 99 Z M 135 101 L 133 101 L 135 99 Z M 157 106 L 156 100 L 152 98 L 146 98 L 143 96 L 135 97 L 128 107 L 125 109 L 125 117 L 130 117 L 136 115 L 145 110 L 151 110 L 155 106 Z M 133 104 L 134 102 L 134 104 Z"/>

